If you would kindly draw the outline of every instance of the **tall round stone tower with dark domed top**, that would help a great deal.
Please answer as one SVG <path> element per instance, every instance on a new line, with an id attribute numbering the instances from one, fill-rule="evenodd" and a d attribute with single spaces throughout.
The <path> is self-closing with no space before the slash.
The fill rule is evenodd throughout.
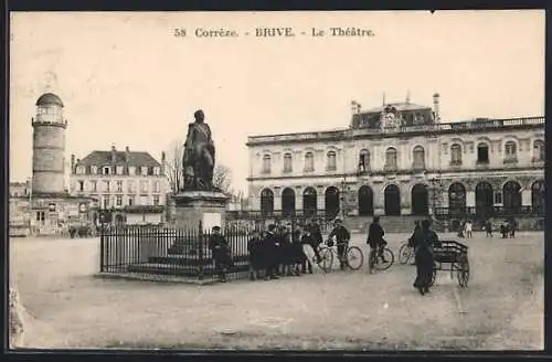
<path id="1" fill-rule="evenodd" d="M 36 100 L 33 127 L 33 193 L 65 192 L 65 129 L 63 102 L 52 93 Z"/>

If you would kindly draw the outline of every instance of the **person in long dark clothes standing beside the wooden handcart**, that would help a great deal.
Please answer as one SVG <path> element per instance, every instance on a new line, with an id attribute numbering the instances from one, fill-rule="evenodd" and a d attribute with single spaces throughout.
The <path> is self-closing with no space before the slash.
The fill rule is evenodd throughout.
<path id="1" fill-rule="evenodd" d="M 422 228 L 413 235 L 416 260 L 416 280 L 414 287 L 421 295 L 429 292 L 434 268 L 434 247 L 439 245 L 437 234 L 429 230 L 429 221 L 422 221 Z"/>

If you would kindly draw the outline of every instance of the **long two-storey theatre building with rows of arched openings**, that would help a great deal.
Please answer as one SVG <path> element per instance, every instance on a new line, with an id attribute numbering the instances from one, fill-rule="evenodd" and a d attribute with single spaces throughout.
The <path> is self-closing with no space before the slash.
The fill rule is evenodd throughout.
<path id="1" fill-rule="evenodd" d="M 474 215 L 544 212 L 544 117 L 443 123 L 404 103 L 347 129 L 248 137 L 251 209 L 262 214 Z"/>

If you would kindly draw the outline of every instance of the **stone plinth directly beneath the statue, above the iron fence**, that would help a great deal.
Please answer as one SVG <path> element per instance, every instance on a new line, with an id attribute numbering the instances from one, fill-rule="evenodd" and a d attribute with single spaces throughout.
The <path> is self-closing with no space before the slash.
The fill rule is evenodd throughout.
<path id="1" fill-rule="evenodd" d="M 173 196 L 176 225 L 198 230 L 200 221 L 204 230 L 224 226 L 229 196 L 214 191 L 182 191 Z"/>

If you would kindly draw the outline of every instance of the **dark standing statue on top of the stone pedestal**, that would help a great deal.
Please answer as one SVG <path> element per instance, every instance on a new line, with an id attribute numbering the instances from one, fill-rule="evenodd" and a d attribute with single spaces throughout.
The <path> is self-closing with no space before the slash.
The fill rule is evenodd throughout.
<path id="1" fill-rule="evenodd" d="M 199 109 L 193 114 L 182 157 L 183 191 L 212 191 L 214 170 L 214 143 L 211 128 L 204 123 L 205 115 Z"/>

